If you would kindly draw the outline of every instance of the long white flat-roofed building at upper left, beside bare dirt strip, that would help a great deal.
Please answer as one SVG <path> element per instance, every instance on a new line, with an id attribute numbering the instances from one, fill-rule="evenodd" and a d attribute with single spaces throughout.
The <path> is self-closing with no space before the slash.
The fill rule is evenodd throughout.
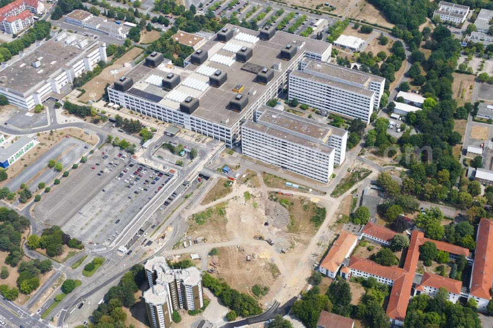
<path id="1" fill-rule="evenodd" d="M 68 32 L 52 36 L 44 43 L 36 41 L 33 50 L 21 51 L 17 59 L 1 63 L 0 94 L 11 104 L 31 110 L 50 97 L 60 100 L 71 90 L 64 86 L 107 60 L 104 42 Z"/>

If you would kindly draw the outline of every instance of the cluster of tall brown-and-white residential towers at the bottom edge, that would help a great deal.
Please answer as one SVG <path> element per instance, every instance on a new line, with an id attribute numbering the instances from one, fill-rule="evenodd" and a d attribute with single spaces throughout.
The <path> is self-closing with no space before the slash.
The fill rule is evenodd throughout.
<path id="1" fill-rule="evenodd" d="M 174 310 L 198 310 L 204 306 L 202 275 L 195 266 L 170 269 L 164 257 L 145 262 L 149 290 L 144 293 L 152 328 L 168 328 Z M 169 318 L 168 318 L 169 317 Z"/>

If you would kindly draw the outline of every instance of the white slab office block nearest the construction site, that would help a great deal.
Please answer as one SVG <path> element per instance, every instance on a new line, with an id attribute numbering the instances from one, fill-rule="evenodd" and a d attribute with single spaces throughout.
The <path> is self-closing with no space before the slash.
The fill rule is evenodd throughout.
<path id="1" fill-rule="evenodd" d="M 267 106 L 262 110 L 256 123 L 242 127 L 243 154 L 328 182 L 334 164 L 344 161 L 348 132 Z"/>

